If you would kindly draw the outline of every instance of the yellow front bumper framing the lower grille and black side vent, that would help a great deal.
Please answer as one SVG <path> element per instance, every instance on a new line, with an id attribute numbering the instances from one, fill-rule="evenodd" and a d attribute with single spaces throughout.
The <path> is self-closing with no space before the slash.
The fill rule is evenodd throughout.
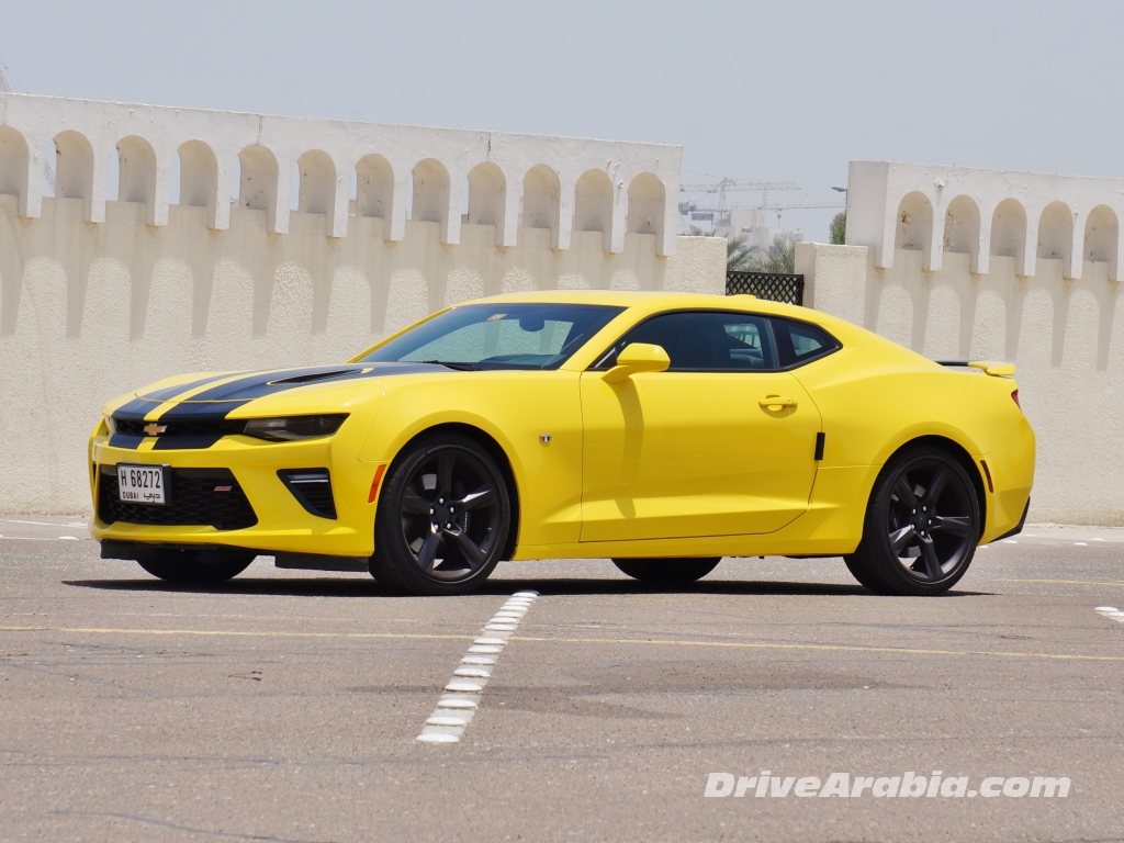
<path id="1" fill-rule="evenodd" d="M 108 436 L 94 433 L 90 443 L 94 501 L 91 533 L 98 541 L 209 544 L 339 556 L 370 556 L 374 552 L 375 504 L 369 502 L 369 497 L 378 465 L 360 462 L 357 454 L 350 453 L 351 448 L 342 446 L 336 437 L 272 443 L 248 436 L 227 436 L 208 448 L 184 451 L 153 451 L 154 442 L 146 439 L 137 448 L 114 447 Z M 220 529 L 211 524 L 180 526 L 103 520 L 103 516 L 110 514 L 102 513 L 98 506 L 106 478 L 102 466 L 123 462 L 166 464 L 175 470 L 196 470 L 197 474 L 202 469 L 227 469 L 252 507 L 256 523 Z M 330 472 L 335 519 L 309 513 L 278 474 L 283 470 L 323 468 Z M 175 506 L 175 501 L 169 505 Z"/>

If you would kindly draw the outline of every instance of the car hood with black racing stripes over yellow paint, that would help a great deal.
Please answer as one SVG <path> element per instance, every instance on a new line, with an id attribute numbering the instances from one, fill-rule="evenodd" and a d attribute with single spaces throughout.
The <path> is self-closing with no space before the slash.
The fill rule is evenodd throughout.
<path id="1" fill-rule="evenodd" d="M 334 366 L 273 369 L 259 372 L 224 372 L 178 379 L 167 386 L 157 382 L 138 389 L 132 400 L 114 409 L 119 419 L 142 420 L 157 405 L 172 405 L 161 419 L 224 418 L 237 408 L 268 396 L 290 390 L 302 395 L 334 389 L 348 381 L 381 379 L 404 374 L 448 373 L 433 363 L 345 363 Z"/>

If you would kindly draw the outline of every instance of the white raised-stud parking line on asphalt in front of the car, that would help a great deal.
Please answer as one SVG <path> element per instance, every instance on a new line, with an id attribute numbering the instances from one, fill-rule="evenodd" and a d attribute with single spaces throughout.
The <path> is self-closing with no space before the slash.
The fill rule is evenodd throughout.
<path id="1" fill-rule="evenodd" d="M 488 635 L 472 642 L 469 652 L 461 659 L 461 665 L 453 671 L 453 679 L 445 686 L 445 696 L 437 701 L 437 707 L 426 719 L 416 741 L 457 743 L 461 740 L 480 704 L 492 668 L 507 646 L 507 640 L 536 597 L 537 591 L 516 591 L 492 619 L 484 624 Z"/>

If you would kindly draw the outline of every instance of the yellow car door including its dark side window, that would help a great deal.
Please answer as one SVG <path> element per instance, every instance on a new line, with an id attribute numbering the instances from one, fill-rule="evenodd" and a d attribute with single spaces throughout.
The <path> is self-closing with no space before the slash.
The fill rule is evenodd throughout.
<path id="1" fill-rule="evenodd" d="M 606 381 L 631 343 L 668 370 Z M 658 315 L 582 373 L 581 401 L 582 542 L 770 533 L 807 510 L 819 413 L 764 317 Z"/>

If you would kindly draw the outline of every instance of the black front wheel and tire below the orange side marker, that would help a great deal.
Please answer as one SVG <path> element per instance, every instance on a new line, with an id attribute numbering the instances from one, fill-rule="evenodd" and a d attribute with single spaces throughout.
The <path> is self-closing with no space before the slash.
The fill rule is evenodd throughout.
<path id="1" fill-rule="evenodd" d="M 499 563 L 511 501 L 491 454 L 456 433 L 404 448 L 387 472 L 374 515 L 371 575 L 410 595 L 463 595 Z"/>

